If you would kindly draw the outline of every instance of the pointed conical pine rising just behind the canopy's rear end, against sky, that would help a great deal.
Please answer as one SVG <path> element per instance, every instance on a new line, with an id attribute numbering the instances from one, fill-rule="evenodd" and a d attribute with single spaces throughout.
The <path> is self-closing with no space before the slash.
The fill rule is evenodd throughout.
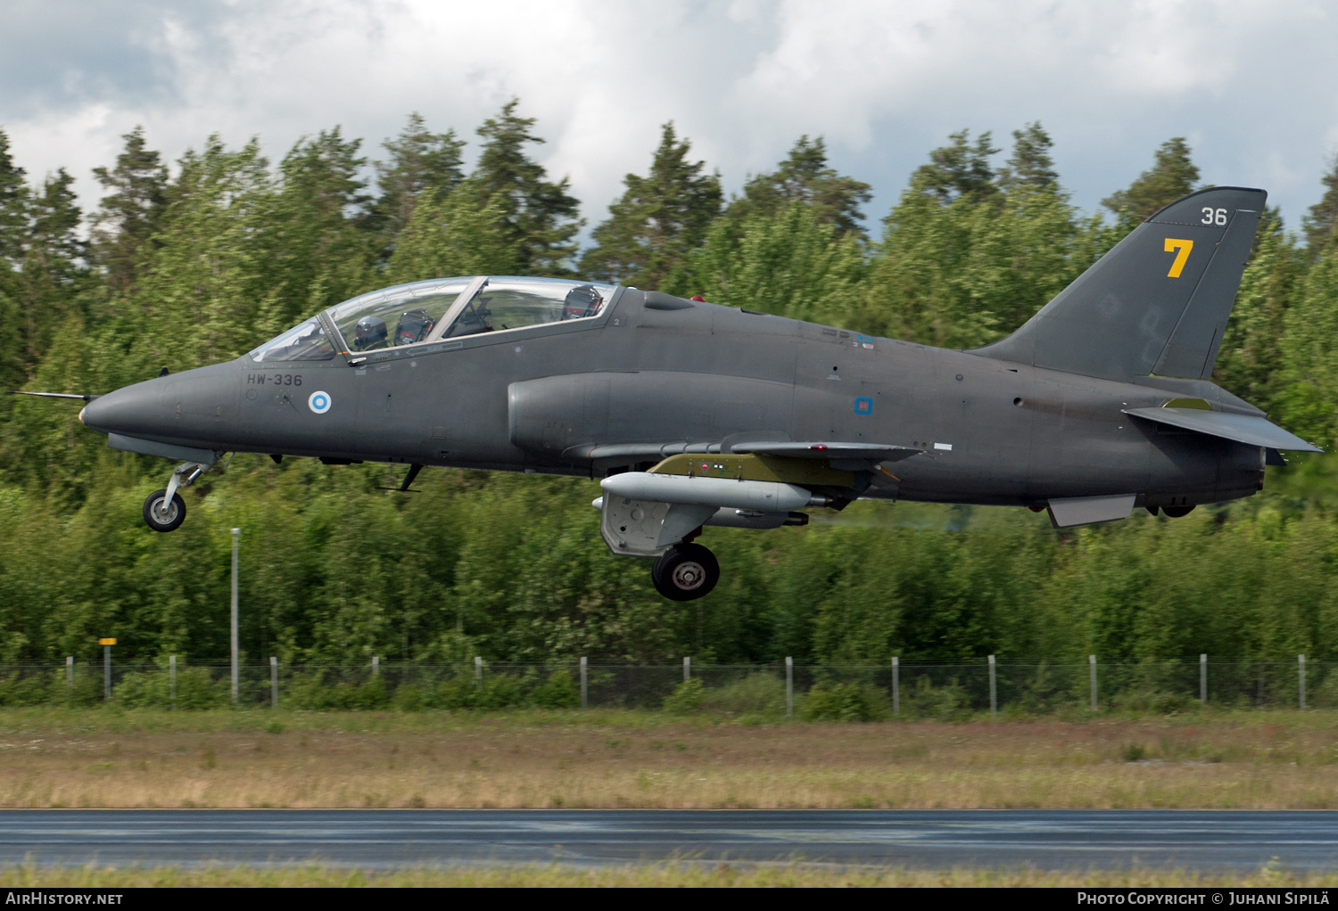
<path id="1" fill-rule="evenodd" d="M 595 246 L 581 258 L 581 272 L 637 288 L 658 288 L 702 239 L 720 214 L 720 175 L 692 163 L 692 143 L 678 140 L 673 122 L 661 127 L 660 147 L 646 177 L 628 174 L 628 187 L 609 206 L 609 219 L 594 229 Z"/>

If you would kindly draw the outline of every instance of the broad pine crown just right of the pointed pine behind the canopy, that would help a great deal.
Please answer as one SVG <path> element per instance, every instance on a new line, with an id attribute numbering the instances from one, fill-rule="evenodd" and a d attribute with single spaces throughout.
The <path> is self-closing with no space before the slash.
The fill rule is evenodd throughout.
<path id="1" fill-rule="evenodd" d="M 838 174 L 827 165 L 827 144 L 822 136 L 799 138 L 785 161 L 772 174 L 759 174 L 744 186 L 744 195 L 729 206 L 729 214 L 777 215 L 789 203 L 814 207 L 822 225 L 835 225 L 836 234 L 863 235 L 860 206 L 872 199 L 863 181 Z"/>

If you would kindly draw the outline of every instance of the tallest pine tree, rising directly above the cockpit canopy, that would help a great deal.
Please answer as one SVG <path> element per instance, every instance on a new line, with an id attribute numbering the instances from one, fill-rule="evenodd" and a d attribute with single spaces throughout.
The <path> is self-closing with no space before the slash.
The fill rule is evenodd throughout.
<path id="1" fill-rule="evenodd" d="M 520 100 L 512 98 L 498 116 L 479 127 L 483 154 L 474 179 L 502 211 L 503 234 L 515 247 L 522 274 L 563 276 L 575 254 L 573 238 L 581 230 L 581 201 L 567 195 L 566 178 L 547 179 L 543 166 L 526 155 L 526 146 L 542 143 L 533 130 L 534 118 L 516 116 Z"/>

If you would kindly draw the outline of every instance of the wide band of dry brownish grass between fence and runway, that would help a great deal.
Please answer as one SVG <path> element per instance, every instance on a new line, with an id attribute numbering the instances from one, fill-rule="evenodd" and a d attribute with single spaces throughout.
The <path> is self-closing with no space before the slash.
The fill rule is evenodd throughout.
<path id="1" fill-rule="evenodd" d="M 1333 808 L 1335 722 L 11 709 L 0 807 Z"/>

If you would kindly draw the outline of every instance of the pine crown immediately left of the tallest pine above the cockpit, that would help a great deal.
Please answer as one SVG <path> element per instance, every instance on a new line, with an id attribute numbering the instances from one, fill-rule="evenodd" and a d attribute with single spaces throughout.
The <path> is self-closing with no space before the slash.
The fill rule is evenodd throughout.
<path id="1" fill-rule="evenodd" d="M 413 217 L 413 206 L 423 193 L 436 190 L 442 197 L 464 179 L 460 159 L 464 140 L 456 138 L 455 130 L 428 131 L 423 116 L 415 111 L 400 135 L 381 144 L 391 158 L 376 162 L 381 190 L 376 215 L 393 243 Z"/>

